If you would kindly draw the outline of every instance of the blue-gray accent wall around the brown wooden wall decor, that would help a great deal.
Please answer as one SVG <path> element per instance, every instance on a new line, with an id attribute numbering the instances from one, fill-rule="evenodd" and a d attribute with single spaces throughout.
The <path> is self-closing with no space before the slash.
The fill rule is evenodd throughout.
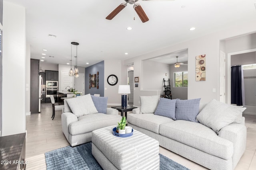
<path id="1" fill-rule="evenodd" d="M 99 72 L 99 88 L 90 88 L 90 74 L 97 74 Z M 100 96 L 104 96 L 104 61 L 100 63 L 94 64 L 92 66 L 85 68 L 85 94 L 100 94 Z"/>

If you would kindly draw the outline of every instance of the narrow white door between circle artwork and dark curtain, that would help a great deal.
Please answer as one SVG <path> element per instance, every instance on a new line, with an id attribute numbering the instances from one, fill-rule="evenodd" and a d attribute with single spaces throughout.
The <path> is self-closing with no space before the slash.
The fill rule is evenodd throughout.
<path id="1" fill-rule="evenodd" d="M 220 102 L 225 103 L 225 53 L 220 51 Z"/>

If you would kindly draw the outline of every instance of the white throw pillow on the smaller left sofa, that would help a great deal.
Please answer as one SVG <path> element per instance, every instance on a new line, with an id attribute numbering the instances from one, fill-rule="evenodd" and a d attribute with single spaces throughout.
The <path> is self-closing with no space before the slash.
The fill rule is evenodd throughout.
<path id="1" fill-rule="evenodd" d="M 66 102 L 72 110 L 72 113 L 74 113 L 74 115 L 77 117 L 98 113 L 90 94 L 86 94 L 77 98 L 66 99 Z"/>

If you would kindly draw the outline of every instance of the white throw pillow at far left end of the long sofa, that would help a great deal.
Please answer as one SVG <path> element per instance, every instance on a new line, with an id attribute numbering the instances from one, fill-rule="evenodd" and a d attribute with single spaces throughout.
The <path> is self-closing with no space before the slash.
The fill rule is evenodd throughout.
<path id="1" fill-rule="evenodd" d="M 140 113 L 155 113 L 160 96 L 140 96 Z"/>

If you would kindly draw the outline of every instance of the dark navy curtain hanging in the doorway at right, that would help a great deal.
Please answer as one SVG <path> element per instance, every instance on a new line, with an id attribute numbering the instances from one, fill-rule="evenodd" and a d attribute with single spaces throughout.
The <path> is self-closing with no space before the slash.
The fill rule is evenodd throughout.
<path id="1" fill-rule="evenodd" d="M 242 66 L 231 67 L 231 104 L 242 106 Z"/>

